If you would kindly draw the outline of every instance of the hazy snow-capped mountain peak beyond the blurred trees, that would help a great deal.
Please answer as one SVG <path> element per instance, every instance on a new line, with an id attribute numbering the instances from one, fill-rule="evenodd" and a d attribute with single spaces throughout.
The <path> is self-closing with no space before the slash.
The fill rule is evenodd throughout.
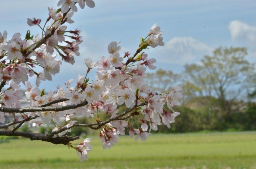
<path id="1" fill-rule="evenodd" d="M 154 50 L 158 62 L 184 65 L 196 63 L 213 48 L 192 37 L 174 37 L 164 47 Z"/>

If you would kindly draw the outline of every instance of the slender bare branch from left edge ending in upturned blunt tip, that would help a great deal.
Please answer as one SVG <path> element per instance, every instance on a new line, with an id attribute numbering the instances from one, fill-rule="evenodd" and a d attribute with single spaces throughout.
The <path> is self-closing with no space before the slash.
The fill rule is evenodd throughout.
<path id="1" fill-rule="evenodd" d="M 76 109 L 78 107 L 82 107 L 87 105 L 88 102 L 84 100 L 81 103 L 66 105 L 62 107 L 28 107 L 28 108 L 9 108 L 9 107 L 0 107 L 0 111 L 4 113 L 25 113 L 25 112 L 44 112 L 44 111 L 64 111 L 70 109 Z"/>

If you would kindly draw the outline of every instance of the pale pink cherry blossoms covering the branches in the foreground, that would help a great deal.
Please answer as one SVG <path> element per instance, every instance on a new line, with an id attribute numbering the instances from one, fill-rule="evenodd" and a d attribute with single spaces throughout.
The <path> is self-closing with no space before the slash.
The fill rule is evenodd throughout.
<path id="1" fill-rule="evenodd" d="M 30 36 L 28 31 L 25 39 L 21 39 L 21 34 L 17 33 L 7 41 L 7 32 L 0 32 L 1 86 L 9 85 L 7 90 L 0 93 L 1 106 L 21 108 L 19 101 L 22 98 L 22 82 L 26 86 L 25 95 L 30 107 L 45 108 L 45 111 L 21 113 L 24 119 L 40 117 L 42 122 L 39 125 L 52 123 L 55 126 L 53 135 L 63 136 L 71 132 L 72 127 L 85 126 L 72 120 L 74 117 L 95 117 L 97 123 L 94 125 L 100 130 L 99 137 L 103 149 L 115 145 L 119 136 L 125 135 L 126 128 L 129 128 L 131 138 L 136 135 L 135 141 L 145 141 L 147 136 L 151 135 L 150 131 L 157 130 L 158 125 L 170 128 L 170 124 L 179 115 L 173 107 L 180 104 L 182 88 L 176 86 L 168 93 L 158 94 L 151 91 L 145 83 L 146 69 L 156 69 L 156 59 L 148 58 L 148 55 L 141 51 L 149 46 L 164 46 L 162 32 L 156 24 L 152 26 L 146 38 L 140 39 L 139 47 L 133 56 L 130 56 L 128 51 L 121 56 L 120 42 L 112 41 L 106 51 L 108 56 L 102 56 L 97 62 L 92 62 L 91 58 L 84 59 L 87 71 L 84 76 L 78 75 L 76 83 L 71 79 L 65 82 L 64 87 L 58 86 L 56 91 L 50 90 L 48 94 L 38 88 L 40 81 L 51 81 L 52 76 L 60 72 L 62 61 L 54 51 L 57 51 L 62 60 L 71 64 L 74 64 L 75 56 L 80 55 L 81 31 L 67 30 L 67 26 L 63 25 L 65 22 L 74 22 L 71 17 L 77 11 L 77 3 L 82 9 L 85 4 L 90 8 L 95 6 L 92 0 L 60 0 L 57 4 L 61 6 L 60 9 L 48 8 L 49 17 L 46 22 L 51 22 L 49 26 L 42 28 L 42 34 L 34 37 Z M 41 19 L 35 18 L 27 21 L 29 26 L 39 25 L 40 22 Z M 66 40 L 66 37 L 73 41 Z M 35 67 L 42 67 L 42 72 L 36 72 Z M 93 68 L 98 71 L 95 79 L 90 80 L 87 75 Z M 36 87 L 28 81 L 29 77 L 34 75 L 37 77 Z M 58 109 L 83 102 L 86 104 L 76 108 Z M 118 111 L 120 105 L 125 105 L 127 109 L 124 112 Z M 164 105 L 167 105 L 168 109 Z M 56 109 L 47 109 L 52 107 Z M 1 123 L 5 122 L 4 114 L 7 112 L 0 112 Z M 104 120 L 103 117 L 108 114 L 111 117 Z M 9 115 L 13 116 L 13 113 Z M 15 120 L 13 118 L 13 121 Z M 81 161 L 88 159 L 90 141 L 90 138 L 85 139 L 77 147 L 69 143 L 69 147 L 77 151 Z"/>

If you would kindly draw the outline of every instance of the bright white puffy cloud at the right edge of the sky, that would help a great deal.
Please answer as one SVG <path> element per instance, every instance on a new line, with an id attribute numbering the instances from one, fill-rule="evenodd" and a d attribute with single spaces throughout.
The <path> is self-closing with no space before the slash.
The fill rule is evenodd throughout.
<path id="1" fill-rule="evenodd" d="M 250 26 L 239 20 L 231 21 L 229 31 L 233 41 L 245 40 L 248 47 L 255 48 L 256 45 L 256 27 Z"/>

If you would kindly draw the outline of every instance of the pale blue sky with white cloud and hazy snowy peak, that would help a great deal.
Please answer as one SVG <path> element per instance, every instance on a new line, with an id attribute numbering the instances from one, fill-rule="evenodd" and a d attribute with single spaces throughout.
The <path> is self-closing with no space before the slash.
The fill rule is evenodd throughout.
<path id="1" fill-rule="evenodd" d="M 245 46 L 246 58 L 256 61 L 256 1 L 255 0 L 94 0 L 95 8 L 78 8 L 72 19 L 74 24 L 67 30 L 83 31 L 80 56 L 74 65 L 63 63 L 61 72 L 53 81 L 42 82 L 40 88 L 54 89 L 64 81 L 76 79 L 86 73 L 84 58 L 97 61 L 108 56 L 107 46 L 111 41 L 121 41 L 122 51 L 134 53 L 139 38 L 145 37 L 156 23 L 163 31 L 164 47 L 147 49 L 149 57 L 157 59 L 157 68 L 180 73 L 184 64 L 198 63 L 204 55 L 222 46 Z M 48 17 L 47 7 L 57 9 L 58 0 L 1 0 L 0 32 L 7 30 L 8 39 L 16 32 L 22 37 L 26 31 L 40 31 L 29 27 L 27 18 Z M 89 77 L 94 78 L 95 73 Z M 35 84 L 35 78 L 31 78 Z"/>

